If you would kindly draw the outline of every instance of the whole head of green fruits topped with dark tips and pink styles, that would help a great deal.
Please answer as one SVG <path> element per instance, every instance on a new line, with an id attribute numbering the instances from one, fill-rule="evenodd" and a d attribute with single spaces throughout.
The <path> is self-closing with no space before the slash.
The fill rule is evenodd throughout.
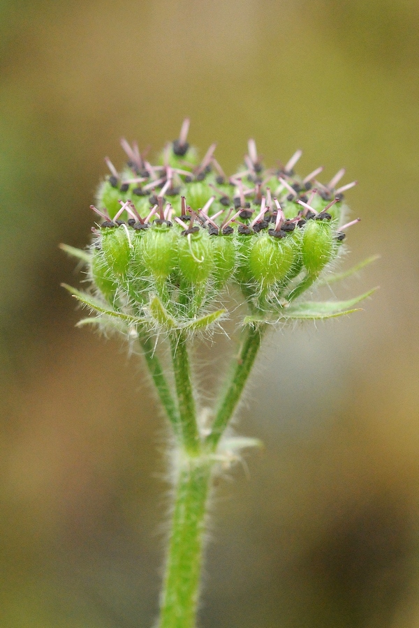
<path id="1" fill-rule="evenodd" d="M 317 168 L 297 177 L 301 151 L 265 168 L 253 140 L 244 164 L 226 177 L 212 145 L 201 162 L 186 140 L 168 144 L 151 165 L 136 144 L 122 147 L 122 173 L 107 159 L 94 228 L 91 280 L 116 311 L 135 316 L 151 295 L 176 320 L 193 320 L 237 285 L 253 311 L 278 311 L 339 252 L 348 225 L 340 170 L 328 185 Z M 356 221 L 353 221 L 356 222 Z M 300 290 L 301 292 L 301 290 Z"/>

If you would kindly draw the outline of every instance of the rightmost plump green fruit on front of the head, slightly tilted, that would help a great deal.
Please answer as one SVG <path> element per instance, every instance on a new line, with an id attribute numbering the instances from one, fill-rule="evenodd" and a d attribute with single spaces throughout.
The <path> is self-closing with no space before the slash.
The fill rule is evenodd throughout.
<path id="1" fill-rule="evenodd" d="M 333 257 L 332 225 L 325 220 L 307 220 L 302 234 L 302 261 L 310 275 L 318 275 Z"/>

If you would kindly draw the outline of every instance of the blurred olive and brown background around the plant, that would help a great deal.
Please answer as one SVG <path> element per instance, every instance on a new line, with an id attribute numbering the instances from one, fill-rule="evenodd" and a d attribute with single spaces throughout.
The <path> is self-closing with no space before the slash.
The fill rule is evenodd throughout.
<path id="1" fill-rule="evenodd" d="M 419 4 L 0 1 L 0 625 L 152 625 L 163 420 L 142 365 L 76 330 L 60 241 L 85 246 L 119 138 L 185 116 L 227 171 L 342 165 L 362 223 L 339 288 L 365 311 L 272 334 L 242 411 L 265 449 L 216 494 L 203 628 L 419 623 Z M 202 350 L 202 347 L 201 347 Z M 204 347 L 207 351 L 207 347 Z M 223 361 L 214 348 L 211 371 Z M 215 366 L 214 366 L 215 365 Z"/>

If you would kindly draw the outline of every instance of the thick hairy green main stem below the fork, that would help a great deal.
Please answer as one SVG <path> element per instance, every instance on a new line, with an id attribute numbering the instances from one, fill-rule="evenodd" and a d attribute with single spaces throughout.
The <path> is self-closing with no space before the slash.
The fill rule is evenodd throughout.
<path id="1" fill-rule="evenodd" d="M 195 626 L 211 469 L 207 458 L 186 458 L 179 468 L 159 628 Z"/>

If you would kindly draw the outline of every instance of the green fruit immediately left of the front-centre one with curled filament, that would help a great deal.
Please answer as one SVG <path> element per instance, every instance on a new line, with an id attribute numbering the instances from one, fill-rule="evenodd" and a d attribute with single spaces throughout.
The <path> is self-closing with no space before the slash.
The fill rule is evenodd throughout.
<path id="1" fill-rule="evenodd" d="M 177 266 L 177 234 L 166 223 L 152 225 L 140 239 L 142 260 L 152 276 L 165 281 Z"/>

